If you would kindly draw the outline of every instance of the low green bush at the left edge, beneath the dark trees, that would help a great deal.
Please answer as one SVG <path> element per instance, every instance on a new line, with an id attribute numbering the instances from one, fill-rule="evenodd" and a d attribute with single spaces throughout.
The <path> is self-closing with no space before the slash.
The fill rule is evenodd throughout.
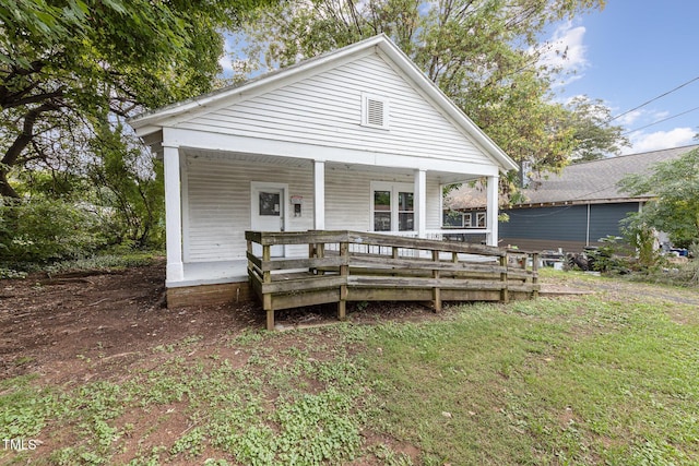
<path id="1" fill-rule="evenodd" d="M 99 217 L 64 201 L 7 203 L 0 225 L 0 258 L 11 265 L 83 258 L 105 244 Z"/>

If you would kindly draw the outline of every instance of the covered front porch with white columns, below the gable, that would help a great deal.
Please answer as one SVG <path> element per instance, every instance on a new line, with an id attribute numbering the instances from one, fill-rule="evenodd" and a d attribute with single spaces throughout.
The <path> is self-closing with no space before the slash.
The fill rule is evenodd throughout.
<path id="1" fill-rule="evenodd" d="M 493 167 L 415 169 L 390 166 L 388 163 L 386 166 L 346 164 L 181 146 L 164 146 L 163 160 L 168 288 L 247 282 L 245 231 L 254 228 L 265 231 L 352 228 L 435 240 L 485 236 L 488 246 L 497 246 L 499 175 Z M 215 172 L 198 171 L 198 164 L 209 166 L 214 163 L 211 160 L 218 164 Z M 241 175 L 245 170 L 249 172 Z M 238 178 L 227 181 L 226 171 L 235 171 Z M 487 179 L 486 224 L 479 228 L 443 227 L 443 187 L 473 179 Z M 215 193 L 205 192 L 212 186 L 225 183 L 238 184 L 239 191 L 228 192 L 226 190 L 233 188 L 222 187 Z M 261 205 L 263 201 L 256 199 L 262 195 L 258 188 L 275 186 L 281 187 L 275 198 L 281 206 L 273 206 L 272 212 L 266 213 L 272 215 L 263 218 L 266 223 L 260 224 L 258 220 L 262 217 L 256 219 L 256 216 L 264 206 Z M 386 205 L 386 202 L 379 205 L 379 194 L 393 195 L 394 199 L 390 205 Z M 400 201 L 399 195 L 403 196 Z M 197 201 L 204 196 L 208 196 L 205 205 Z M 236 210 L 232 207 L 226 211 L 228 204 L 236 204 Z M 220 226 L 200 227 L 204 215 L 218 217 L 212 222 Z M 197 228 L 204 232 L 199 234 Z M 213 236 L 214 229 L 223 231 L 221 237 Z M 208 255 L 200 253 L 201 249 L 208 249 Z M 305 250 L 294 246 L 277 248 L 274 252 L 275 255 L 287 258 L 303 256 L 305 253 Z"/>

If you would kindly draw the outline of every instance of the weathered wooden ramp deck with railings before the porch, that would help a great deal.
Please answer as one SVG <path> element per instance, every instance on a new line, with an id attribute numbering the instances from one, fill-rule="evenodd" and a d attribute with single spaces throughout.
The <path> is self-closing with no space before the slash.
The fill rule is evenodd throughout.
<path id="1" fill-rule="evenodd" d="M 250 285 L 274 328 L 274 311 L 347 301 L 508 301 L 538 294 L 537 254 L 454 241 L 357 231 L 246 231 Z M 262 255 L 253 254 L 253 243 Z M 306 244 L 306 258 L 272 258 Z"/>

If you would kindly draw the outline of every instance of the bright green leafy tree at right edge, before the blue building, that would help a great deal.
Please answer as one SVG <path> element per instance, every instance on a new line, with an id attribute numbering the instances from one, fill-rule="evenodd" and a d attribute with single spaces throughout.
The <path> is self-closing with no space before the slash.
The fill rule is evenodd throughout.
<path id="1" fill-rule="evenodd" d="M 619 186 L 633 196 L 654 196 L 627 219 L 631 230 L 665 231 L 680 248 L 699 242 L 699 150 L 659 163 L 650 174 L 628 175 Z"/>

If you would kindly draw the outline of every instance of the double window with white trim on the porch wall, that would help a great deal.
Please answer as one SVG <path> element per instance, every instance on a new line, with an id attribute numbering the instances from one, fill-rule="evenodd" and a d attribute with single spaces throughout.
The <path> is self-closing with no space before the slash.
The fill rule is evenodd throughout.
<path id="1" fill-rule="evenodd" d="M 414 231 L 413 190 L 410 183 L 371 182 L 372 231 Z"/>

